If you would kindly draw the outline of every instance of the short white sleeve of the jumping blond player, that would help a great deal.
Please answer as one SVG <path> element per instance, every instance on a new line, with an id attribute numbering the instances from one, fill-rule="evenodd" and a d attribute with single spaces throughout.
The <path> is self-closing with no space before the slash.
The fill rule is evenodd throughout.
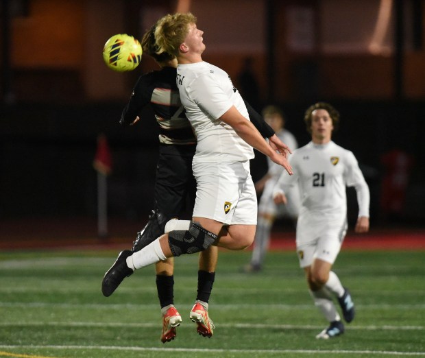
<path id="1" fill-rule="evenodd" d="M 203 73 L 193 81 L 191 95 L 199 108 L 214 119 L 219 119 L 233 106 L 219 81 L 210 74 Z"/>

